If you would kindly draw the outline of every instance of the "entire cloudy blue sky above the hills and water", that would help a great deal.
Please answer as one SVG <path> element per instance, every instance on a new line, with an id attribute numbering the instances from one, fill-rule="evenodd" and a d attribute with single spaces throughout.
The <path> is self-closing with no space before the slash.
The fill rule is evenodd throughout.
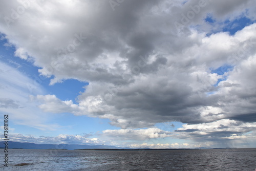
<path id="1" fill-rule="evenodd" d="M 256 2 L 0 7 L 0 134 L 119 147 L 256 147 Z"/>

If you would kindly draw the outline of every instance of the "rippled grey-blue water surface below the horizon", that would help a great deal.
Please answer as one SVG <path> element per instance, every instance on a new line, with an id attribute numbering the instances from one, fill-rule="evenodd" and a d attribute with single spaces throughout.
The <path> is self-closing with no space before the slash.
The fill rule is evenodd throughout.
<path id="1" fill-rule="evenodd" d="M 256 148 L 190 149 L 174 151 L 10 149 L 8 156 L 8 168 L 2 164 L 0 169 L 233 171 L 254 170 L 256 168 Z"/>

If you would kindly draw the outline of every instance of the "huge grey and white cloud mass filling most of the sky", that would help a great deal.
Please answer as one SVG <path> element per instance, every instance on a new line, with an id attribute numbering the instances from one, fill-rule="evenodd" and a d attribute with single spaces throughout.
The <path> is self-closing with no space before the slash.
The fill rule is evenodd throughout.
<path id="1" fill-rule="evenodd" d="M 180 121 L 193 126 L 178 131 L 196 135 L 202 123 L 228 120 L 222 125 L 238 123 L 231 125 L 239 130 L 256 122 L 256 24 L 234 35 L 221 32 L 227 19 L 254 20 L 254 1 L 123 1 L 114 10 L 109 1 L 3 3 L 1 15 L 12 20 L 2 19 L 0 32 L 17 57 L 53 76 L 50 84 L 89 82 L 78 104 L 55 95 L 31 97 L 45 112 L 108 118 L 122 129 Z M 24 12 L 13 19 L 10 9 L 20 6 Z M 182 23 L 195 6 L 200 10 Z M 215 25 L 205 22 L 209 14 Z M 212 72 L 218 68 L 222 73 Z"/>

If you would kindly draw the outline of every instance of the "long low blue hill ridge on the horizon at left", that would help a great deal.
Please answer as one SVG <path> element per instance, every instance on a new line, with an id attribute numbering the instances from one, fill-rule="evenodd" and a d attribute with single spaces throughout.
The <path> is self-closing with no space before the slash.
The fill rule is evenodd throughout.
<path id="1" fill-rule="evenodd" d="M 0 142 L 0 148 L 4 148 L 4 141 Z M 8 141 L 8 148 L 24 148 L 24 149 L 131 149 L 120 148 L 111 145 L 78 145 L 78 144 L 35 144 L 30 142 L 14 142 Z"/>

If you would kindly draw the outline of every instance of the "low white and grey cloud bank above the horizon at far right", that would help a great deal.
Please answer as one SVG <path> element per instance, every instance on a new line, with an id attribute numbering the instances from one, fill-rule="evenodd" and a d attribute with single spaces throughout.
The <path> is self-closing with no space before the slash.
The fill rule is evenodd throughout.
<path id="1" fill-rule="evenodd" d="M 210 123 L 184 124 L 175 131 L 175 137 L 194 139 L 197 142 L 212 141 L 214 143 L 211 142 L 211 146 L 216 147 L 246 147 L 256 140 L 255 124 L 255 122 L 248 123 L 230 119 Z"/>

